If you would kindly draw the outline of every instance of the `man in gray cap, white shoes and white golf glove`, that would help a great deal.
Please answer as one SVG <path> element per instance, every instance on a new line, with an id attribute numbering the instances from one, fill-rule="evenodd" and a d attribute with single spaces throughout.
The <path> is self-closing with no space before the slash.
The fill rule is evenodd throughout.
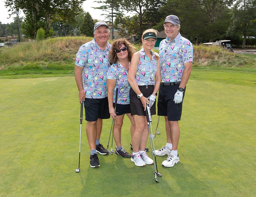
<path id="1" fill-rule="evenodd" d="M 157 114 L 165 117 L 167 143 L 161 149 L 155 150 L 155 154 L 168 155 L 162 165 L 172 167 L 180 162 L 178 121 L 181 117 L 186 84 L 192 70 L 193 45 L 180 35 L 180 20 L 175 15 L 165 18 L 164 33 L 167 38 L 159 45 L 161 83 Z"/>

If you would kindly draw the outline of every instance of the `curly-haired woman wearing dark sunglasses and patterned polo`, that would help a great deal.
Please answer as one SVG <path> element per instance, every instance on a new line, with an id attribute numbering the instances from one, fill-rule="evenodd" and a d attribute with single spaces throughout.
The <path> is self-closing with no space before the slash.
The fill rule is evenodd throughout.
<path id="1" fill-rule="evenodd" d="M 108 106 L 111 118 L 115 119 L 114 139 L 116 142 L 116 154 L 121 157 L 131 157 L 121 144 L 121 128 L 123 125 L 124 114 L 131 121 L 130 132 L 133 133 L 135 124 L 130 111 L 129 91 L 131 86 L 128 83 L 127 75 L 132 59 L 135 53 L 134 47 L 125 39 L 115 40 L 109 52 L 109 62 L 112 64 L 107 73 L 107 88 L 108 88 Z M 119 88 L 119 94 L 116 104 L 116 113 L 114 103 L 116 97 L 116 88 Z"/>

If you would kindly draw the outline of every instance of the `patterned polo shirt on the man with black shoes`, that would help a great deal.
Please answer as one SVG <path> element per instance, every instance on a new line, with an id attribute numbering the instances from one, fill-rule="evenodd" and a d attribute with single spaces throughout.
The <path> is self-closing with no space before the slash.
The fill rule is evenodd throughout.
<path id="1" fill-rule="evenodd" d="M 107 91 L 107 71 L 110 66 L 108 54 L 111 45 L 107 42 L 105 51 L 93 39 L 82 45 L 76 54 L 76 65 L 84 67 L 83 86 L 85 98 L 105 98 Z"/>

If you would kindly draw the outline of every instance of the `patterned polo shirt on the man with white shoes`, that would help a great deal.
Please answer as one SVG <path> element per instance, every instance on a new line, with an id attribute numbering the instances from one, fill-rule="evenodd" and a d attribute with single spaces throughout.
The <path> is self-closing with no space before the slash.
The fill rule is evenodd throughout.
<path id="1" fill-rule="evenodd" d="M 193 45 L 180 33 L 174 40 L 162 40 L 159 45 L 161 82 L 181 81 L 184 63 L 193 62 Z"/>

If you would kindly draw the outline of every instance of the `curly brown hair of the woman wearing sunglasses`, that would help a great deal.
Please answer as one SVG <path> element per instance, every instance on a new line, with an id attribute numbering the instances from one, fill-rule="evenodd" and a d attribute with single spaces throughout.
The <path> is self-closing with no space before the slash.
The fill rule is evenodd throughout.
<path id="1" fill-rule="evenodd" d="M 115 50 L 119 49 L 122 46 L 122 44 L 125 47 L 127 47 L 128 60 L 129 60 L 129 62 L 131 62 L 132 55 L 136 52 L 135 47 L 133 47 L 132 44 L 130 42 L 128 42 L 126 39 L 120 38 L 120 39 L 115 40 L 112 44 L 111 50 L 109 52 L 109 62 L 110 62 L 110 64 L 118 62 L 118 58 L 117 58 Z"/>

